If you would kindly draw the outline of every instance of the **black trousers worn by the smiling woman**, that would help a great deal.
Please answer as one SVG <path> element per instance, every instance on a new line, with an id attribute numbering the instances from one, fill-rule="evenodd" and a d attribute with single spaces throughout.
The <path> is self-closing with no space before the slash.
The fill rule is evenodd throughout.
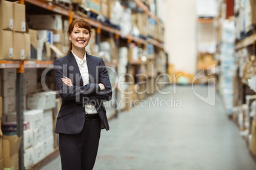
<path id="1" fill-rule="evenodd" d="M 79 134 L 59 134 L 62 170 L 92 170 L 100 136 L 100 119 L 86 119 Z"/>

